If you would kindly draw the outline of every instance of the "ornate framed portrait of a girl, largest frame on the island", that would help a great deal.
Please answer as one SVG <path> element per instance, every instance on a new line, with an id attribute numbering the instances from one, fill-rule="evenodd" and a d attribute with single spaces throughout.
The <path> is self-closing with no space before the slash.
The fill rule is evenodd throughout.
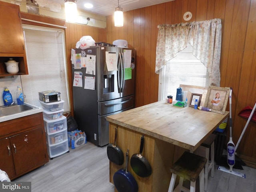
<path id="1" fill-rule="evenodd" d="M 206 95 L 205 107 L 208 107 L 212 112 L 225 114 L 228 103 L 230 88 L 209 86 Z"/>

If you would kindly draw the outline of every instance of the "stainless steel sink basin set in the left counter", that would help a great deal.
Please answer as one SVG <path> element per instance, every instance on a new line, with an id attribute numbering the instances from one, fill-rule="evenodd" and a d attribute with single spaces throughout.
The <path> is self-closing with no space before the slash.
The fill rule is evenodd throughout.
<path id="1" fill-rule="evenodd" d="M 7 115 L 14 115 L 24 111 L 32 110 L 34 107 L 23 104 L 23 105 L 13 105 L 13 106 L 1 106 L 0 107 L 0 117 Z"/>

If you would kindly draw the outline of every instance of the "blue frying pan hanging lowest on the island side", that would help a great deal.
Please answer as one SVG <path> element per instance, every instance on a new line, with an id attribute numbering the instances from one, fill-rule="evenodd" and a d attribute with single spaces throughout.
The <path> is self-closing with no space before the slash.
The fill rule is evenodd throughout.
<path id="1" fill-rule="evenodd" d="M 130 172 L 127 172 L 128 153 L 126 152 L 125 169 L 120 169 L 113 176 L 114 185 L 118 192 L 138 192 L 138 184 Z"/>

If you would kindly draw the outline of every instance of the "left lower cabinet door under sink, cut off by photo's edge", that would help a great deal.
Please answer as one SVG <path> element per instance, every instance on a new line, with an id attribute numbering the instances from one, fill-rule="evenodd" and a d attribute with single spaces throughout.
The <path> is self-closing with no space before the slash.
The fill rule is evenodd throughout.
<path id="1" fill-rule="evenodd" d="M 5 171 L 9 178 L 16 175 L 12 158 L 10 138 L 0 140 L 0 169 Z"/>

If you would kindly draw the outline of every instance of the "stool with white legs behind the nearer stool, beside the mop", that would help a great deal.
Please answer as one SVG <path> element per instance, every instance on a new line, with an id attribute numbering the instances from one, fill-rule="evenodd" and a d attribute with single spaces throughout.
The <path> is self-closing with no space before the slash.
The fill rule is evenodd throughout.
<path id="1" fill-rule="evenodd" d="M 211 177 L 214 177 L 214 140 L 216 138 L 216 134 L 211 134 L 202 144 L 201 146 L 205 148 L 205 157 L 207 162 L 204 167 L 204 190 L 207 191 L 208 187 L 208 173 L 211 170 Z M 209 162 L 211 148 L 211 162 Z"/>

